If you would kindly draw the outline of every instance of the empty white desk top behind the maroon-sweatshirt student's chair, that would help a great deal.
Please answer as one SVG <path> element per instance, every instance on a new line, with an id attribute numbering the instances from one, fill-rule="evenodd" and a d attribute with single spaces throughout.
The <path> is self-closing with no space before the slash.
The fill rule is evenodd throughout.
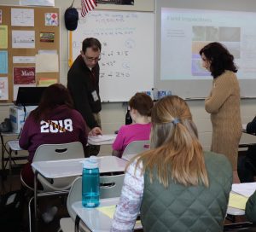
<path id="1" fill-rule="evenodd" d="M 84 159 L 61 159 L 52 161 L 37 161 L 32 167 L 46 178 L 73 177 L 82 175 Z M 100 173 L 125 171 L 127 161 L 116 156 L 98 157 Z"/>

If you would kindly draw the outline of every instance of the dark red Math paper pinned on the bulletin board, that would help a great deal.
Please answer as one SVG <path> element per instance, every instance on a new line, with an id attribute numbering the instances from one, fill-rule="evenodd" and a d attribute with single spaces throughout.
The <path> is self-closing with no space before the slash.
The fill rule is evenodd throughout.
<path id="1" fill-rule="evenodd" d="M 35 67 L 14 67 L 14 84 L 35 83 Z"/>

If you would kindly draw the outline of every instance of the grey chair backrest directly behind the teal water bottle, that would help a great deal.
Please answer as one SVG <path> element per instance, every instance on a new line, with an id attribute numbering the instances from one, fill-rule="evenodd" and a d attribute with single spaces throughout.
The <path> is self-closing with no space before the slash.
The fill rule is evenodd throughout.
<path id="1" fill-rule="evenodd" d="M 123 187 L 124 177 L 125 174 L 116 176 L 101 176 L 100 198 L 119 197 Z M 67 197 L 67 211 L 73 220 L 75 220 L 76 213 L 72 209 L 72 204 L 80 200 L 82 200 L 82 177 L 78 177 L 74 180 Z"/>

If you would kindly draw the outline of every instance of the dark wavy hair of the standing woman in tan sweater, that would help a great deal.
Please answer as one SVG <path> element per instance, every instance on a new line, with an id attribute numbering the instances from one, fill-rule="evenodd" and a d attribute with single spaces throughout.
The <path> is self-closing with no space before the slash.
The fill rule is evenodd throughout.
<path id="1" fill-rule="evenodd" d="M 200 55 L 204 54 L 207 60 L 211 61 L 210 72 L 213 78 L 217 78 L 225 70 L 237 72 L 234 56 L 230 54 L 223 44 L 218 42 L 207 44 L 199 53 Z"/>

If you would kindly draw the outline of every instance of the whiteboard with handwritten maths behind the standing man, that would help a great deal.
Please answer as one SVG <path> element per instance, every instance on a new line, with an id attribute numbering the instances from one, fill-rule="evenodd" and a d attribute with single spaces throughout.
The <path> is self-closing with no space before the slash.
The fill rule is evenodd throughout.
<path id="1" fill-rule="evenodd" d="M 102 102 L 127 102 L 137 91 L 154 87 L 153 13 L 96 10 L 79 18 L 78 28 L 70 33 L 69 57 L 73 61 L 84 38 L 102 43 Z"/>

